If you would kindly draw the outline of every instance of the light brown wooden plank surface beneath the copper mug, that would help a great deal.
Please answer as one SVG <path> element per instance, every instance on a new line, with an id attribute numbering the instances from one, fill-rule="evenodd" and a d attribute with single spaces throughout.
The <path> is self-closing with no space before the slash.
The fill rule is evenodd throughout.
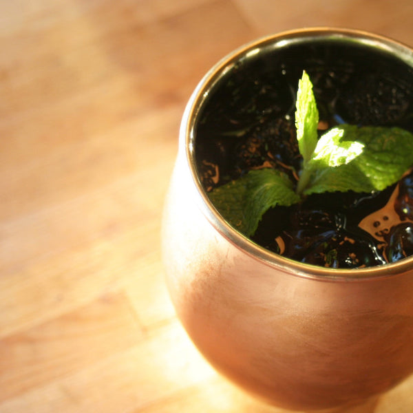
<path id="1" fill-rule="evenodd" d="M 412 21 L 412 0 L 1 0 L 0 412 L 282 412 L 209 367 L 165 290 L 180 117 L 257 36 L 335 25 L 413 45 Z M 376 411 L 413 412 L 413 379 Z"/>

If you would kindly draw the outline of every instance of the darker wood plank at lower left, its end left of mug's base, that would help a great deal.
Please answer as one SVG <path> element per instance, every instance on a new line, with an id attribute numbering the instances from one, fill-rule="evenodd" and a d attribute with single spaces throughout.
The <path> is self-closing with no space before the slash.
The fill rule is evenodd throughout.
<path id="1" fill-rule="evenodd" d="M 10 335 L 0 341 L 0 401 L 128 350 L 140 340 L 142 328 L 120 293 Z"/>

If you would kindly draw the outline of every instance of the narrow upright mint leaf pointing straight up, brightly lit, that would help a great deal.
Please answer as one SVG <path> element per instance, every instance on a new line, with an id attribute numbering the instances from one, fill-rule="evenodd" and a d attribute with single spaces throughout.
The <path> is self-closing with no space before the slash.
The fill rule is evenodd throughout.
<path id="1" fill-rule="evenodd" d="M 298 83 L 295 127 L 297 127 L 298 147 L 303 157 L 304 165 L 310 160 L 317 145 L 318 122 L 319 113 L 313 93 L 313 84 L 308 74 L 303 72 L 303 76 Z"/>

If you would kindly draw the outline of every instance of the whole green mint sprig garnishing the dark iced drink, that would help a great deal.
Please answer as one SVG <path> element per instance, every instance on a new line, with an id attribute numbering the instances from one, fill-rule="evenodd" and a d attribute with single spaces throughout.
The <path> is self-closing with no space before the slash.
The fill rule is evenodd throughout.
<path id="1" fill-rule="evenodd" d="M 299 81 L 295 125 L 303 158 L 298 182 L 275 169 L 258 169 L 209 193 L 221 215 L 246 236 L 262 215 L 311 193 L 382 191 L 413 165 L 413 135 L 398 127 L 341 125 L 318 138 L 319 113 L 306 72 Z"/>

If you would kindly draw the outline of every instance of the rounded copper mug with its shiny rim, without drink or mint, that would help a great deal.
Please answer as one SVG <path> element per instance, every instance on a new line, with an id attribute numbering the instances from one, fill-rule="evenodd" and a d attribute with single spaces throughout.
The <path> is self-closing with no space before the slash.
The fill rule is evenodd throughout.
<path id="1" fill-rule="evenodd" d="M 240 61 L 326 41 L 380 50 L 413 70 L 409 47 L 354 30 L 268 36 L 215 65 L 193 92 L 162 224 L 167 285 L 195 346 L 244 390 L 292 410 L 365 403 L 413 372 L 413 260 L 352 270 L 293 262 L 227 224 L 196 167 L 204 103 Z"/>

